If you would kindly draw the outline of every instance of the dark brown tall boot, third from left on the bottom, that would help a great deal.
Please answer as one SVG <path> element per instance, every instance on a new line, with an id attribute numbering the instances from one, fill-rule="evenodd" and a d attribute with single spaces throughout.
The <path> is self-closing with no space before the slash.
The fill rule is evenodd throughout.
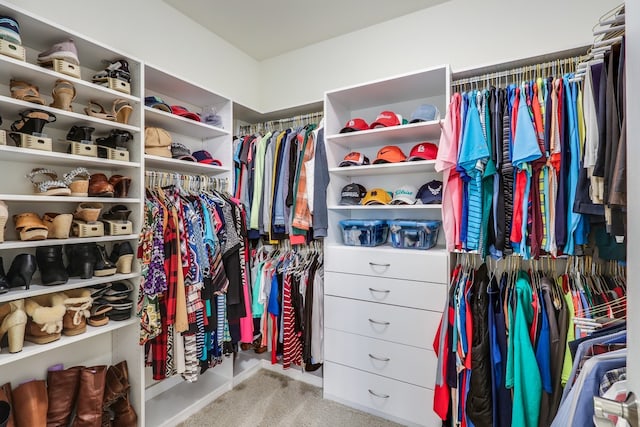
<path id="1" fill-rule="evenodd" d="M 47 372 L 47 427 L 68 426 L 78 396 L 80 366 Z"/>

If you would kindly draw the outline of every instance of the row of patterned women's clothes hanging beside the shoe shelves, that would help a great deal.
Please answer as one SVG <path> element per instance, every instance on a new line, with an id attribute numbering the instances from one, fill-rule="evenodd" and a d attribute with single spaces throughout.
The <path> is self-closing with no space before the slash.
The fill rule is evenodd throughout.
<path id="1" fill-rule="evenodd" d="M 207 176 L 147 171 L 145 186 L 139 342 L 155 380 L 193 382 L 252 338 L 244 206 Z"/>

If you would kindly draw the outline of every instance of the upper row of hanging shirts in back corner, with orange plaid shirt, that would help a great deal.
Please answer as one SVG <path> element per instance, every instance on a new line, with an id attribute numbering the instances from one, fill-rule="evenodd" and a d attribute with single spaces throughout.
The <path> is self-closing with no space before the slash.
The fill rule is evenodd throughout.
<path id="1" fill-rule="evenodd" d="M 250 239 L 302 244 L 326 237 L 329 170 L 321 119 L 317 113 L 244 127 L 250 133 L 234 138 L 234 195 L 247 212 Z"/>

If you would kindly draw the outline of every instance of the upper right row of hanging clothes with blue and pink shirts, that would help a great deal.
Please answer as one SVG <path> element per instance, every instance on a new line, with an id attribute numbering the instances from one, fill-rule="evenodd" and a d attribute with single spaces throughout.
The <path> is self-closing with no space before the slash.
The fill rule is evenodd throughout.
<path id="1" fill-rule="evenodd" d="M 454 82 L 436 160 L 449 251 L 581 255 L 595 239 L 624 259 L 624 39 L 610 43 Z"/>

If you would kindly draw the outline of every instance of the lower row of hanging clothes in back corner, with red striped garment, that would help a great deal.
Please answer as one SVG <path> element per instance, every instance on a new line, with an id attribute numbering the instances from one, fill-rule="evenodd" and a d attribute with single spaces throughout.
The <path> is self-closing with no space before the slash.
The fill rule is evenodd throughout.
<path id="1" fill-rule="evenodd" d="M 253 349 L 269 351 L 283 369 L 317 370 L 324 353 L 322 243 L 259 244 L 251 258 Z"/>

